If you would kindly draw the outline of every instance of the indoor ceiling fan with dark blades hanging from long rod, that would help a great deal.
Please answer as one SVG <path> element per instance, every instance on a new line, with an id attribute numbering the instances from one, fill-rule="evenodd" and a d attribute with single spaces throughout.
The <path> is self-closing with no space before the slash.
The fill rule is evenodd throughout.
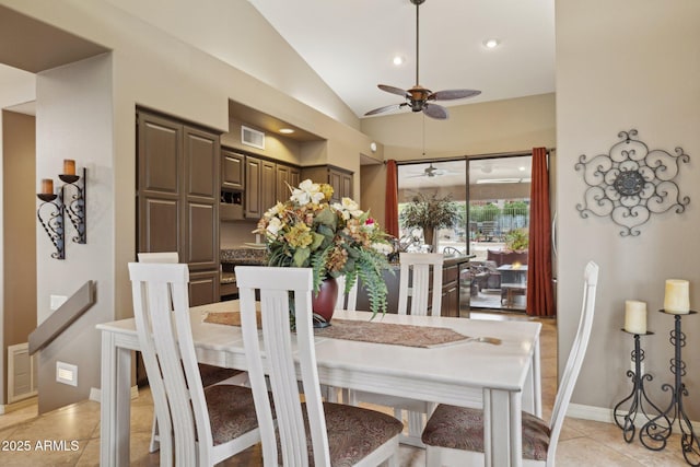
<path id="1" fill-rule="evenodd" d="M 394 110 L 401 107 L 410 107 L 412 112 L 422 112 L 429 117 L 444 120 L 447 118 L 447 109 L 441 105 L 433 104 L 434 101 L 453 101 L 457 98 L 472 97 L 481 94 L 481 91 L 475 90 L 446 90 L 432 92 L 419 84 L 418 69 L 419 69 L 419 56 L 418 56 L 418 34 L 419 34 L 419 7 L 425 0 L 410 0 L 416 5 L 416 85 L 409 90 L 402 90 L 400 87 L 389 86 L 386 84 L 378 84 L 382 91 L 387 93 L 397 94 L 406 98 L 406 102 L 401 104 L 385 105 L 384 107 L 375 108 L 364 114 L 376 115 L 387 110 Z"/>

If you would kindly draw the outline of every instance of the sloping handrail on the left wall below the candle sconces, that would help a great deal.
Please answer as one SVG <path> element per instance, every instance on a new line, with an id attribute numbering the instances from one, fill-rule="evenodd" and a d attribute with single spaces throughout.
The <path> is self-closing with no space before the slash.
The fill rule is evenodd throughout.
<path id="1" fill-rule="evenodd" d="M 30 354 L 33 355 L 51 343 L 94 304 L 95 285 L 90 280 L 30 334 Z"/>

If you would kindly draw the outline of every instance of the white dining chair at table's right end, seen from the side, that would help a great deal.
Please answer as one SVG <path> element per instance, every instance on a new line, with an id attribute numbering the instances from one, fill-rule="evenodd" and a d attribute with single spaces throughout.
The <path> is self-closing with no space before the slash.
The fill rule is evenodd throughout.
<path id="1" fill-rule="evenodd" d="M 532 413 L 523 412 L 522 445 L 523 465 L 525 466 L 555 466 L 561 425 L 591 337 L 597 281 L 598 266 L 591 261 L 586 265 L 584 272 L 583 305 L 579 330 L 567 360 L 549 423 Z M 482 466 L 483 411 L 439 405 L 428 421 L 422 440 L 427 445 L 428 467 Z"/>

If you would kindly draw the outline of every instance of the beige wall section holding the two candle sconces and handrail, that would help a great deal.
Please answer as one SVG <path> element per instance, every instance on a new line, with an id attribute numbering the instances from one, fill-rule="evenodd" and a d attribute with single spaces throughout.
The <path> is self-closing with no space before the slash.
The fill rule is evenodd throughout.
<path id="1" fill-rule="evenodd" d="M 86 244 L 72 242 L 75 231 L 66 218 L 66 259 L 51 259 L 54 247 L 35 223 L 37 252 L 37 320 L 50 315 L 51 294 L 70 296 L 85 282 L 96 283 L 96 303 L 38 353 L 39 412 L 85 398 L 100 387 L 101 336 L 95 326 L 114 319 L 116 191 L 133 184 L 113 179 L 113 61 L 112 55 L 71 63 L 37 75 L 36 179 L 54 178 L 59 186 L 63 159 L 75 160 L 77 173 L 86 168 Z M 82 131 L 78 131 L 82 129 Z M 133 197 L 131 197 L 133 200 Z M 131 235 L 133 236 L 133 235 Z M 56 382 L 56 362 L 78 366 L 78 386 Z"/>

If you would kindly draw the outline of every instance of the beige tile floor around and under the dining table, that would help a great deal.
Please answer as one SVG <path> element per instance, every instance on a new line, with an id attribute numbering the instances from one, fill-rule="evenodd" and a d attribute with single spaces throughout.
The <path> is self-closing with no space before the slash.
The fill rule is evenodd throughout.
<path id="1" fill-rule="evenodd" d="M 513 315 L 475 314 L 480 318 L 515 318 Z M 542 397 L 549 417 L 556 392 L 556 322 L 542 322 Z M 0 466 L 97 466 L 100 465 L 100 405 L 85 400 L 40 417 L 36 405 L 0 416 Z M 140 390 L 131 406 L 131 465 L 158 466 L 149 454 L 153 406 L 148 389 Z M 401 467 L 422 467 L 424 453 L 401 447 Z M 260 451 L 250 448 L 225 466 L 261 466 Z M 639 441 L 627 444 L 615 424 L 568 418 L 559 441 L 558 466 L 684 466 L 677 435 L 665 451 L 652 452 Z"/>

